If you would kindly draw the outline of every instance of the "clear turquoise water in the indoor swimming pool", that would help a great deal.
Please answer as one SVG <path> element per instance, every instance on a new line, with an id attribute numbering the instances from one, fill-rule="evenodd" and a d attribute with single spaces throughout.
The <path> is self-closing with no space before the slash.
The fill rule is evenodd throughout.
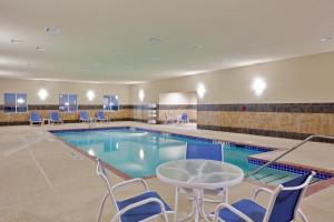
<path id="1" fill-rule="evenodd" d="M 155 175 L 159 164 L 185 159 L 187 143 L 213 142 L 206 139 L 147 132 L 144 129 L 134 128 L 53 131 L 53 133 L 131 178 Z M 248 163 L 248 157 L 259 152 L 263 151 L 235 144 L 224 145 L 225 162 L 238 165 L 245 173 L 258 167 Z M 263 176 L 265 182 L 282 182 L 285 178 L 291 179 L 296 175 L 286 171 L 265 169 L 259 176 Z"/>

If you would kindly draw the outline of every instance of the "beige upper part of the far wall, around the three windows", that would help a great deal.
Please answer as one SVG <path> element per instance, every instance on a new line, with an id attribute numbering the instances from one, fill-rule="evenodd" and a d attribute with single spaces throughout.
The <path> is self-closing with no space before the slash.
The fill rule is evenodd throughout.
<path id="1" fill-rule="evenodd" d="M 49 93 L 46 101 L 38 97 L 40 89 L 46 89 Z M 126 84 L 0 79 L 0 104 L 3 104 L 4 92 L 28 93 L 28 104 L 58 104 L 59 93 L 77 94 L 78 104 L 101 104 L 104 94 L 117 94 L 120 104 L 130 104 L 129 89 Z M 86 97 L 88 90 L 96 94 L 92 101 L 88 101 Z"/>

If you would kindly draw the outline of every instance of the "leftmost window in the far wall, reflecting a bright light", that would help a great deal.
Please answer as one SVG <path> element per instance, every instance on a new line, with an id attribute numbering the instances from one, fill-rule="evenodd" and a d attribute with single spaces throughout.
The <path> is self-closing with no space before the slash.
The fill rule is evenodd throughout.
<path id="1" fill-rule="evenodd" d="M 4 93 L 4 112 L 27 111 L 27 93 Z"/>

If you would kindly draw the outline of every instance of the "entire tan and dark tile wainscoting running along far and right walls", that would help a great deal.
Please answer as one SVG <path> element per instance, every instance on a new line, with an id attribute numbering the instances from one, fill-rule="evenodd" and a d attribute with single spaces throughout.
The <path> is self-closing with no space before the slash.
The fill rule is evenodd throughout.
<path id="1" fill-rule="evenodd" d="M 102 105 L 78 105 L 91 117 Z M 43 118 L 49 111 L 58 110 L 57 104 L 31 104 Z M 120 105 L 118 112 L 106 112 L 112 120 L 132 120 L 146 122 L 146 104 Z M 3 110 L 3 105 L 0 105 Z M 257 134 L 266 137 L 304 139 L 310 134 L 334 135 L 334 103 L 253 103 L 253 104 L 164 104 L 158 105 L 158 121 L 165 117 L 177 117 L 187 112 L 191 121 L 197 121 L 198 129 Z M 61 113 L 65 122 L 77 122 L 78 113 Z M 29 113 L 8 114 L 0 111 L 0 125 L 28 124 Z M 330 140 L 321 140 L 332 142 Z"/>

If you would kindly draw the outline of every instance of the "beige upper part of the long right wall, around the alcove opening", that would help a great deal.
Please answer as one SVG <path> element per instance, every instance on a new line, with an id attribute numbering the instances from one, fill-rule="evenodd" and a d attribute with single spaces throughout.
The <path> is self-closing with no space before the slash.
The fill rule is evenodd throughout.
<path id="1" fill-rule="evenodd" d="M 262 97 L 256 97 L 250 89 L 257 77 L 267 82 Z M 333 82 L 334 52 L 330 52 L 136 84 L 131 85 L 131 101 L 135 104 L 158 102 L 160 93 L 195 91 L 203 83 L 206 94 L 198 103 L 334 102 Z M 138 99 L 140 89 L 145 92 L 143 102 Z"/>

